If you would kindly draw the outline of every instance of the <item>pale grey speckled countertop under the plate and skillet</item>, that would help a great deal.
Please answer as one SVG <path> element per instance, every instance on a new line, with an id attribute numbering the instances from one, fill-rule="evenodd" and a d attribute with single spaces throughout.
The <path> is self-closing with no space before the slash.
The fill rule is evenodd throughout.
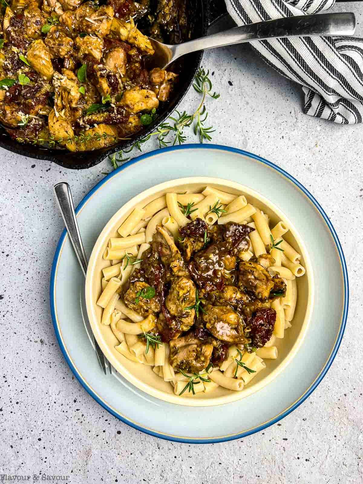
<path id="1" fill-rule="evenodd" d="M 345 7 L 357 14 L 362 35 L 363 7 Z M 208 102 L 217 129 L 213 141 L 285 168 L 318 199 L 336 228 L 350 278 L 339 353 L 297 410 L 245 439 L 180 444 L 121 423 L 74 378 L 57 345 L 48 302 L 51 263 L 63 229 L 52 187 L 68 181 L 78 204 L 109 171 L 109 162 L 76 172 L 1 150 L 0 474 L 31 475 L 31 480 L 34 474 L 69 475 L 67 482 L 74 484 L 363 483 L 363 126 L 305 116 L 301 88 L 246 45 L 208 52 L 203 65 L 221 93 L 218 101 Z M 190 91 L 180 107 L 195 106 Z"/>

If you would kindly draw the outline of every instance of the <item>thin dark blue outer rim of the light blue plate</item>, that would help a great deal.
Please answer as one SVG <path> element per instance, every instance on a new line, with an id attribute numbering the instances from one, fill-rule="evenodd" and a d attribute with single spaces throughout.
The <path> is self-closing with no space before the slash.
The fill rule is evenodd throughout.
<path id="1" fill-rule="evenodd" d="M 172 441 L 176 441 L 176 442 L 189 443 L 189 444 L 191 444 L 191 443 L 199 444 L 199 443 L 226 442 L 226 441 L 229 441 L 229 440 L 235 440 L 235 439 L 240 439 L 242 437 L 247 437 L 248 435 L 252 435 L 252 434 L 257 433 L 257 432 L 259 432 L 261 430 L 264 430 L 267 427 L 269 427 L 270 425 L 273 425 L 274 423 L 280 421 L 281 419 L 283 419 L 284 417 L 286 417 L 289 413 L 291 413 L 293 410 L 295 410 L 296 408 L 298 408 L 302 404 L 302 402 L 304 402 L 306 400 L 306 398 L 309 395 L 311 395 L 311 393 L 318 387 L 319 383 L 325 377 L 325 375 L 327 374 L 329 368 L 331 367 L 331 365 L 333 363 L 333 360 L 334 360 L 334 358 L 335 358 L 335 356 L 336 356 L 336 354 L 338 352 L 338 349 L 340 347 L 340 344 L 341 344 L 341 341 L 342 341 L 342 338 L 343 338 L 343 334 L 344 334 L 344 331 L 345 331 L 345 327 L 346 327 L 346 324 L 347 324 L 348 305 L 349 305 L 348 270 L 347 270 L 347 264 L 346 264 L 346 260 L 345 260 L 345 257 L 344 257 L 344 253 L 343 253 L 342 246 L 340 244 L 339 238 L 338 238 L 338 236 L 336 234 L 336 231 L 335 231 L 335 229 L 334 229 L 334 227 L 333 227 L 333 225 L 332 225 L 329 217 L 327 216 L 327 214 L 325 213 L 325 211 L 323 210 L 323 208 L 320 206 L 320 204 L 318 203 L 318 201 L 316 200 L 316 198 L 313 197 L 313 195 L 302 185 L 302 183 L 300 183 L 298 180 L 296 180 L 292 175 L 290 175 L 289 173 L 287 173 L 287 171 L 284 170 L 283 168 L 281 168 L 280 166 L 275 165 L 274 163 L 268 161 L 265 158 L 262 158 L 261 156 L 258 156 L 258 155 L 254 154 L 254 153 L 249 152 L 249 151 L 244 151 L 244 150 L 240 150 L 238 148 L 228 147 L 228 146 L 224 146 L 224 145 L 217 145 L 217 144 L 208 144 L 208 145 L 207 144 L 185 144 L 185 145 L 181 145 L 181 146 L 172 146 L 172 147 L 163 148 L 163 151 L 153 150 L 153 151 L 149 151 L 148 153 L 141 154 L 140 156 L 137 156 L 136 158 L 133 158 L 132 160 L 124 163 L 118 169 L 112 171 L 104 179 L 102 179 L 101 181 L 99 181 L 86 194 L 86 196 L 80 201 L 80 203 L 78 204 L 78 206 L 76 207 L 76 210 L 75 210 L 76 214 L 83 208 L 83 206 L 86 204 L 86 202 L 88 201 L 88 199 L 90 197 L 92 197 L 92 195 L 104 183 L 106 183 L 107 181 L 109 181 L 113 176 L 116 176 L 120 171 L 122 171 L 126 167 L 132 166 L 132 165 L 136 164 L 137 162 L 139 162 L 141 160 L 144 160 L 145 158 L 152 157 L 152 156 L 154 156 L 157 153 L 161 153 L 161 152 L 171 152 L 171 151 L 175 151 L 175 150 L 187 150 L 187 149 L 197 149 L 197 150 L 198 149 L 210 149 L 210 150 L 219 150 L 219 151 L 232 152 L 232 153 L 236 153 L 236 154 L 239 154 L 239 155 L 247 156 L 247 157 L 249 157 L 249 158 L 251 158 L 251 159 L 253 159 L 255 161 L 258 161 L 258 162 L 260 162 L 260 163 L 262 163 L 262 164 L 264 164 L 264 165 L 266 165 L 266 166 L 268 166 L 268 167 L 276 170 L 279 174 L 283 175 L 285 178 L 287 178 L 288 181 L 292 182 L 297 188 L 299 188 L 302 191 L 302 193 L 314 205 L 314 207 L 316 208 L 316 210 L 318 210 L 318 212 L 321 215 L 321 217 L 323 218 L 325 224 L 329 228 L 330 233 L 331 233 L 331 235 L 333 237 L 333 241 L 335 243 L 335 246 L 336 246 L 338 255 L 339 255 L 340 265 L 341 265 L 341 269 L 342 269 L 342 276 L 343 276 L 343 283 L 344 283 L 343 311 L 342 311 L 342 318 L 341 318 L 341 323 L 340 323 L 339 331 L 338 331 L 338 334 L 336 336 L 335 343 L 334 343 L 334 346 L 333 346 L 332 351 L 330 353 L 330 356 L 327 359 L 327 361 L 324 364 L 324 366 L 319 371 L 317 378 L 315 378 L 315 380 L 311 383 L 310 387 L 307 388 L 307 390 L 301 395 L 301 397 L 298 400 L 296 400 L 294 402 L 294 404 L 292 404 L 289 408 L 287 408 L 284 411 L 282 411 L 280 414 L 276 415 L 274 418 L 272 418 L 268 422 L 264 422 L 264 423 L 262 423 L 262 424 L 260 424 L 260 425 L 258 425 L 256 427 L 254 427 L 252 429 L 249 429 L 249 430 L 240 432 L 238 434 L 234 434 L 234 435 L 231 435 L 231 436 L 225 436 L 225 437 L 208 438 L 208 439 L 190 439 L 190 438 L 183 438 L 183 437 L 178 437 L 178 436 L 172 436 L 172 435 L 167 435 L 167 434 L 163 434 L 163 433 L 158 433 L 158 432 L 155 432 L 154 430 L 151 430 L 151 429 L 149 429 L 147 427 L 143 427 L 141 425 L 138 425 L 137 423 L 135 423 L 135 422 L 133 422 L 133 421 L 131 421 L 131 420 L 129 420 L 129 419 L 121 416 L 115 410 L 113 410 L 108 405 L 106 405 L 106 403 L 104 403 L 102 400 L 100 400 L 100 398 L 93 392 L 93 390 L 91 389 L 91 387 L 85 382 L 85 380 L 82 378 L 81 374 L 78 373 L 76 367 L 73 365 L 73 363 L 68 358 L 68 355 L 67 355 L 67 352 L 66 352 L 66 348 L 64 348 L 64 346 L 63 346 L 63 343 L 62 343 L 62 340 L 61 340 L 61 335 L 60 335 L 60 333 L 58 331 L 57 317 L 56 317 L 56 309 L 55 309 L 55 280 L 56 280 L 55 279 L 55 276 L 56 276 L 56 272 L 57 272 L 57 266 L 58 266 L 59 257 L 61 255 L 61 247 L 62 247 L 63 242 L 64 242 L 64 239 L 66 237 L 66 229 L 63 229 L 63 231 L 61 233 L 61 237 L 60 237 L 60 240 L 59 240 L 59 242 L 57 244 L 57 248 L 56 248 L 56 251 L 55 251 L 54 258 L 53 258 L 53 263 L 52 263 L 52 268 L 51 268 L 51 273 L 50 273 L 50 287 L 49 287 L 50 312 L 51 312 L 52 323 L 53 323 L 54 331 L 56 333 L 56 337 L 57 337 L 58 344 L 59 344 L 59 346 L 61 348 L 61 351 L 63 353 L 63 356 L 64 356 L 66 362 L 68 363 L 69 367 L 71 368 L 73 374 L 75 375 L 75 377 L 77 378 L 77 380 L 79 381 L 79 383 L 83 386 L 83 388 L 87 391 L 87 393 L 89 393 L 91 395 L 91 397 L 94 400 L 96 400 L 96 402 L 99 405 L 101 405 L 103 408 L 105 408 L 109 413 L 111 413 L 112 415 L 114 415 L 115 417 L 117 417 L 123 423 L 126 423 L 126 424 L 130 425 L 131 427 L 136 428 L 137 430 L 140 430 L 141 432 L 144 432 L 146 434 L 149 434 L 149 435 L 151 435 L 153 437 L 158 437 L 160 439 L 172 440 Z"/>

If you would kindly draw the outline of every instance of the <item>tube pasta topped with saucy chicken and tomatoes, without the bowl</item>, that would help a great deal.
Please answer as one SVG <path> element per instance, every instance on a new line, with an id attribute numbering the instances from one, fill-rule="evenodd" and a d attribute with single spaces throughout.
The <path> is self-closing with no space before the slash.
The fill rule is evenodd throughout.
<path id="1" fill-rule="evenodd" d="M 242 391 L 278 359 L 291 327 L 301 255 L 288 228 L 244 195 L 213 187 L 136 207 L 107 241 L 102 323 L 116 350 L 176 395 Z"/>

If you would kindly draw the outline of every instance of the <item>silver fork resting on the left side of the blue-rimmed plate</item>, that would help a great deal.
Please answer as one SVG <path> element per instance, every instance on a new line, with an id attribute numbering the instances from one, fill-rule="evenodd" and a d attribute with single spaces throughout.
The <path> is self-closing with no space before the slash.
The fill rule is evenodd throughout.
<path id="1" fill-rule="evenodd" d="M 69 239 L 72 242 L 73 248 L 75 249 L 76 256 L 77 256 L 79 265 L 81 266 L 82 272 L 86 277 L 88 261 L 83 247 L 81 234 L 79 232 L 79 227 L 78 227 L 76 213 L 75 213 L 75 207 L 73 205 L 71 189 L 68 183 L 65 183 L 65 182 L 57 183 L 56 185 L 54 185 L 54 193 L 57 198 L 57 202 L 61 211 L 62 218 L 64 220 L 65 228 L 67 229 L 67 232 L 68 232 Z M 81 290 L 80 297 L 84 298 L 84 291 L 82 290 Z M 83 322 L 85 324 L 85 328 L 89 337 L 91 334 L 92 341 L 93 341 L 92 346 L 94 346 L 98 361 L 105 375 L 107 375 L 106 368 L 108 368 L 108 371 L 111 374 L 112 373 L 111 363 L 107 360 L 107 358 L 102 353 L 101 348 L 99 347 L 96 341 L 96 338 L 92 333 L 87 312 L 84 311 L 84 308 L 85 308 L 85 302 L 81 301 L 81 311 L 82 311 Z"/>

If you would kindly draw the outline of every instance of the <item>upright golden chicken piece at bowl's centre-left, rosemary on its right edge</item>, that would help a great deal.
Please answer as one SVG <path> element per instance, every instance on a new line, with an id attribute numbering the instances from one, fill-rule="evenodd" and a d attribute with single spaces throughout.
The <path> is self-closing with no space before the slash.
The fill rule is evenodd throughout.
<path id="1" fill-rule="evenodd" d="M 188 331 L 194 324 L 195 309 L 185 309 L 196 303 L 196 286 L 189 277 L 174 277 L 166 296 L 166 308 L 176 318 L 181 331 Z"/>

